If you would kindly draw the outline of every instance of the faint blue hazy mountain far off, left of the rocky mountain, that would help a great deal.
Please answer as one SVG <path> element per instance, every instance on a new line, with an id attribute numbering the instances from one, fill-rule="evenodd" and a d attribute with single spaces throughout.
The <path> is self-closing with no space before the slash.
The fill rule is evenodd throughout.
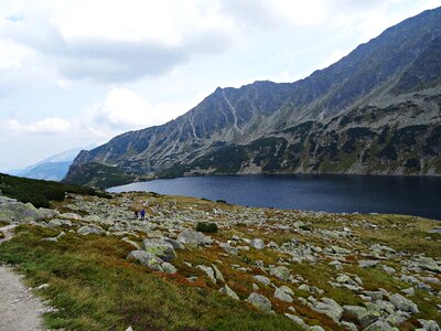
<path id="1" fill-rule="evenodd" d="M 79 148 L 69 149 L 45 158 L 44 160 L 24 169 L 15 170 L 13 172 L 10 171 L 9 173 L 32 179 L 61 181 L 66 175 L 69 166 L 80 150 L 82 149 Z"/>

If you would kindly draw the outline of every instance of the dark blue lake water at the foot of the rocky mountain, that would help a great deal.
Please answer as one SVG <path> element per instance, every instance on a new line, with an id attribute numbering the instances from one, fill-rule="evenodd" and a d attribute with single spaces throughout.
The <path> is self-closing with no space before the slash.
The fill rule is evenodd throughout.
<path id="1" fill-rule="evenodd" d="M 441 178 L 226 175 L 139 182 L 109 192 L 148 191 L 304 211 L 392 213 L 441 220 Z"/>

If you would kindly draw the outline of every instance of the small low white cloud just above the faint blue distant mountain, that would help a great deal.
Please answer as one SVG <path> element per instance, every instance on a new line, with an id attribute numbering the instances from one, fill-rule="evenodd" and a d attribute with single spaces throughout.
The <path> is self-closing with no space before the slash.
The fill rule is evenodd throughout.
<path id="1" fill-rule="evenodd" d="M 7 129 L 18 134 L 66 134 L 71 124 L 62 118 L 44 118 L 33 122 L 21 122 L 18 119 L 9 119 L 6 122 Z"/>

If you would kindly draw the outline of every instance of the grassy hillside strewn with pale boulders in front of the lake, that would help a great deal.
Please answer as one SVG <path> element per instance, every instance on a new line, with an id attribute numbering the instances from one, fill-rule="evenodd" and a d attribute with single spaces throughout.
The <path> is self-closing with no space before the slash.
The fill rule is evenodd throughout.
<path id="1" fill-rule="evenodd" d="M 18 214 L 26 205 L 0 196 L 0 221 L 20 224 L 0 245 L 0 260 L 47 299 L 51 329 L 413 330 L 441 322 L 435 221 L 155 193 L 67 197 L 24 220 Z M 141 209 L 147 217 L 136 220 Z"/>

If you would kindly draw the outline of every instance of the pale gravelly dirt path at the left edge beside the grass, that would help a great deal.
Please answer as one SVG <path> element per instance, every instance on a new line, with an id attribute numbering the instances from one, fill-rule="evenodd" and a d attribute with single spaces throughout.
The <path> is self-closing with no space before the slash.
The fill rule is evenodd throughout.
<path id="1" fill-rule="evenodd" d="M 13 236 L 14 225 L 0 227 L 4 241 Z M 6 266 L 0 266 L 0 330 L 39 331 L 42 327 L 43 303 L 21 282 L 20 276 Z"/>

